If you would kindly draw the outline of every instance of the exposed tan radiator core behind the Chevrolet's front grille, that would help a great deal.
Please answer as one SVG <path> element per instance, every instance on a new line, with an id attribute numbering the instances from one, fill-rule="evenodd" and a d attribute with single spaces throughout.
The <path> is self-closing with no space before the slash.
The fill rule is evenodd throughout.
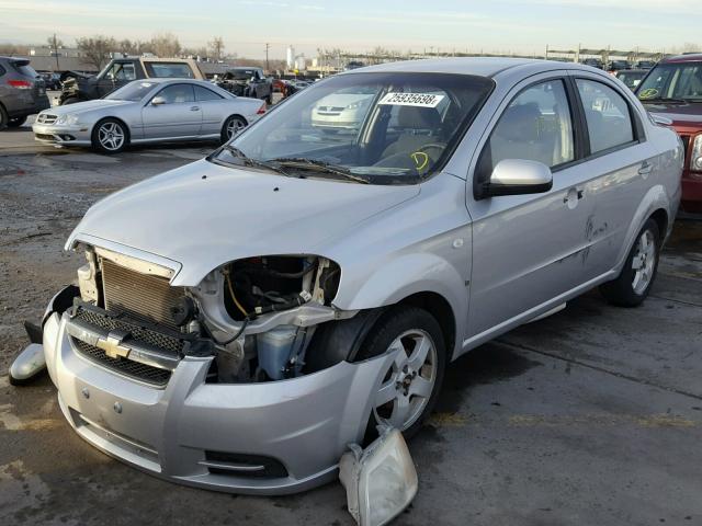
<path id="1" fill-rule="evenodd" d="M 102 259 L 101 267 L 107 311 L 126 312 L 178 330 L 171 312 L 183 297 L 182 288 L 171 287 L 165 277 L 141 274 L 110 260 Z"/>

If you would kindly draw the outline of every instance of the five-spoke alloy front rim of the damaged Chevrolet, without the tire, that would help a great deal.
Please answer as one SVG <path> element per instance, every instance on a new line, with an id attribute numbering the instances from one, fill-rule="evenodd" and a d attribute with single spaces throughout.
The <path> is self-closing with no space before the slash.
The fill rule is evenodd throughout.
<path id="1" fill-rule="evenodd" d="M 375 422 L 400 431 L 410 427 L 421 416 L 437 382 L 438 355 L 431 336 L 414 329 L 397 336 L 387 352 L 395 359 L 375 393 Z"/>

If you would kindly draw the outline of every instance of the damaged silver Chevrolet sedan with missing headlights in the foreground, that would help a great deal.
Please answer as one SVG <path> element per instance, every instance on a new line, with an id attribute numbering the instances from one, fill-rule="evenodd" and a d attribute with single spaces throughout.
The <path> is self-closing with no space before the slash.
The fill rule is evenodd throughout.
<path id="1" fill-rule="evenodd" d="M 366 101 L 356 132 L 326 134 L 315 108 L 348 93 Z M 66 244 L 87 258 L 79 286 L 43 322 L 60 408 L 174 482 L 329 481 L 376 424 L 415 433 L 467 351 L 592 287 L 639 305 L 682 161 L 624 84 L 580 65 L 422 60 L 317 82 L 88 210 Z"/>

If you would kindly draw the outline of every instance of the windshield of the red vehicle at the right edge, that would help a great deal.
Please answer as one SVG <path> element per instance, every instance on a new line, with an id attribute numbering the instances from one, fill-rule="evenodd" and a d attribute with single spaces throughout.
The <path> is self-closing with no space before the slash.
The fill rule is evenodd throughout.
<path id="1" fill-rule="evenodd" d="M 636 90 L 642 101 L 702 101 L 702 62 L 661 64 L 650 70 Z"/>

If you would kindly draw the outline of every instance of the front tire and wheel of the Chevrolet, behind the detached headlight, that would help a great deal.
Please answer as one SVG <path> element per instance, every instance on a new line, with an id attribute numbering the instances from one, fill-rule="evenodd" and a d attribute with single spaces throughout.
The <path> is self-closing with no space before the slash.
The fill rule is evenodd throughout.
<path id="1" fill-rule="evenodd" d="M 397 350 L 397 357 L 376 386 L 365 435 L 377 436 L 378 424 L 414 436 L 431 414 L 446 365 L 446 350 L 439 322 L 423 309 L 398 306 L 383 315 L 370 330 L 356 359 Z M 420 381 L 422 380 L 422 381 Z"/>

